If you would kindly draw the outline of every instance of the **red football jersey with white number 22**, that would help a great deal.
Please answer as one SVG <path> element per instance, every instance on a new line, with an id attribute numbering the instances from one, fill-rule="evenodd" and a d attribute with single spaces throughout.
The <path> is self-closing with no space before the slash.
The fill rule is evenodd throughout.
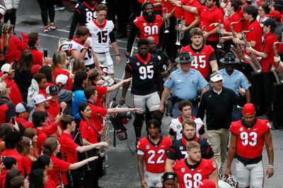
<path id="1" fill-rule="evenodd" d="M 137 154 L 144 156 L 147 172 L 164 173 L 167 151 L 171 144 L 171 139 L 163 136 L 160 136 L 157 144 L 154 144 L 149 136 L 143 137 L 137 142 Z"/>

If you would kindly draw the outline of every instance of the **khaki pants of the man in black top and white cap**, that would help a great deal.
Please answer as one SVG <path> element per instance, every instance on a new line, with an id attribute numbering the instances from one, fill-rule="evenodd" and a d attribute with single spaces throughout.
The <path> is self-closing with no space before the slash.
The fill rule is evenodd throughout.
<path id="1" fill-rule="evenodd" d="M 207 137 L 212 144 L 212 150 L 218 163 L 218 168 L 221 168 L 227 158 L 227 146 L 229 143 L 229 129 L 208 130 Z"/>

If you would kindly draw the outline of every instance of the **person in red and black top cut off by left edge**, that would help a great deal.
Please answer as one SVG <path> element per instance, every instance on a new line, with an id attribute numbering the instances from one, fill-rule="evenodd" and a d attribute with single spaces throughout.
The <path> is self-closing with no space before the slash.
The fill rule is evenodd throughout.
<path id="1" fill-rule="evenodd" d="M 8 123 L 15 116 L 15 106 L 7 96 L 6 83 L 0 82 L 0 123 Z"/>

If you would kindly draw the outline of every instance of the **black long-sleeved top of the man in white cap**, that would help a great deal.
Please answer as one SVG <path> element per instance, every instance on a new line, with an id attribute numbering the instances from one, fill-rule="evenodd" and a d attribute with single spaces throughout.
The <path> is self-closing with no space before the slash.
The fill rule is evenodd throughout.
<path id="1" fill-rule="evenodd" d="M 233 105 L 237 104 L 239 96 L 232 89 L 222 87 L 220 94 L 211 88 L 202 94 L 197 117 L 203 120 L 207 115 L 207 130 L 229 129 Z"/>

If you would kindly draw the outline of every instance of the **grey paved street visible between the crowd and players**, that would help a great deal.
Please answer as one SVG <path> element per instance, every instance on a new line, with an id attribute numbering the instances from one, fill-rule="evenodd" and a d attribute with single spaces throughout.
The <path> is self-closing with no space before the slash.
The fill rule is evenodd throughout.
<path id="1" fill-rule="evenodd" d="M 37 0 L 21 0 L 21 4 L 17 12 L 17 23 L 16 23 L 16 33 L 21 36 L 21 31 L 30 32 L 32 30 L 37 30 L 40 32 L 40 43 L 41 48 L 46 48 L 49 51 L 49 55 L 52 56 L 54 51 L 57 51 L 58 40 L 62 37 L 67 38 L 69 36 L 69 25 L 71 24 L 71 17 L 73 13 L 71 12 L 70 6 L 65 6 L 64 11 L 57 11 L 55 15 L 55 23 L 57 25 L 57 30 L 50 31 L 48 33 L 42 32 L 42 21 L 40 16 L 40 8 L 37 4 Z M 127 45 L 126 39 L 118 40 L 120 46 L 120 54 L 125 53 L 125 48 Z M 113 54 L 113 52 L 111 51 Z M 112 56 L 113 58 L 115 56 Z M 125 68 L 125 57 L 122 56 L 122 63 L 120 65 L 115 65 L 115 77 L 120 80 Z M 132 105 L 129 98 L 129 93 L 127 95 L 126 103 Z M 115 93 L 112 94 L 112 96 Z M 120 92 L 117 96 L 117 100 L 120 99 Z M 134 116 L 133 116 L 134 118 Z M 164 117 L 162 132 L 167 136 L 168 125 L 171 118 Z M 127 133 L 129 146 L 135 153 L 134 143 L 134 130 L 132 127 L 132 121 L 127 125 Z M 145 130 L 143 131 L 143 136 L 146 135 Z M 275 175 L 270 178 L 270 180 L 265 180 L 265 187 L 283 187 L 282 184 L 282 130 L 272 130 L 273 144 L 275 148 Z M 112 139 L 112 134 L 110 134 L 110 139 Z M 139 187 L 139 177 L 137 173 L 137 156 L 132 155 L 127 147 L 127 142 L 120 142 L 117 140 L 117 147 L 113 147 L 110 143 L 108 149 L 108 174 L 105 175 L 100 181 L 100 186 L 102 187 L 117 187 L 117 188 L 130 188 Z M 249 151 L 247 151 L 249 152 Z M 264 152 L 263 155 L 265 167 L 267 167 L 267 154 Z"/>

